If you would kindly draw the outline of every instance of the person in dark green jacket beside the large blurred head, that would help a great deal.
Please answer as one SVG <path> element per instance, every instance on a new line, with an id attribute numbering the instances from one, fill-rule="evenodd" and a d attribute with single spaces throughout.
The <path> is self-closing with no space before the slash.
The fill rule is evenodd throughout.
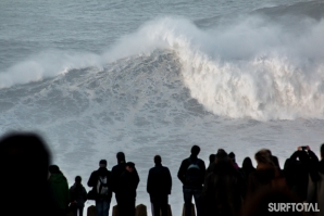
<path id="1" fill-rule="evenodd" d="M 49 189 L 54 200 L 54 215 L 66 215 L 70 203 L 68 183 L 59 166 L 49 166 Z"/>

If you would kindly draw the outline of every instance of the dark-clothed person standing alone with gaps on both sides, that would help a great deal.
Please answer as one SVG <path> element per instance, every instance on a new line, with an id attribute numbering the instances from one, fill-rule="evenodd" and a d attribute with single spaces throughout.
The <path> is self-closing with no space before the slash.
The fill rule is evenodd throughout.
<path id="1" fill-rule="evenodd" d="M 160 155 L 154 156 L 155 166 L 149 170 L 147 191 L 153 204 L 153 216 L 167 216 L 167 195 L 171 194 L 172 177 L 167 167 L 162 166 Z"/>

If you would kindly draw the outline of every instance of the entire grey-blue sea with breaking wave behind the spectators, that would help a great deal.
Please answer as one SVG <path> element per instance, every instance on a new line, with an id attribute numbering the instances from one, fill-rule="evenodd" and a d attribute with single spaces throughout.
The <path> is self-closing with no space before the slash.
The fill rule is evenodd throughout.
<path id="1" fill-rule="evenodd" d="M 262 148 L 282 166 L 298 145 L 319 154 L 323 11 L 300 0 L 1 1 L 0 132 L 39 132 L 70 185 L 125 152 L 149 215 L 160 154 L 179 215 L 176 175 L 194 144 L 207 165 L 220 148 L 239 164 Z"/>

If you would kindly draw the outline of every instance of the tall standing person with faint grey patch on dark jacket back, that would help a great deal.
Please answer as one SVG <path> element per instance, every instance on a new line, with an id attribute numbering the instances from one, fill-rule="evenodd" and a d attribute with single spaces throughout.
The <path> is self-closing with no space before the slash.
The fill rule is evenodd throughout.
<path id="1" fill-rule="evenodd" d="M 178 179 L 183 182 L 185 216 L 191 216 L 192 196 L 196 203 L 197 216 L 202 215 L 201 194 L 205 175 L 205 166 L 204 162 L 198 158 L 199 152 L 200 148 L 198 145 L 194 145 L 191 148 L 191 155 L 182 162 L 177 173 Z"/>

